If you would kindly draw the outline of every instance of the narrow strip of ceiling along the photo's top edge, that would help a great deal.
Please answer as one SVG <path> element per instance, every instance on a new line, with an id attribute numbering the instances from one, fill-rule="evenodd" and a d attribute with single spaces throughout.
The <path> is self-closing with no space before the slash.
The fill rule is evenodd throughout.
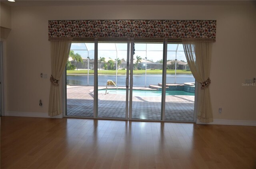
<path id="1" fill-rule="evenodd" d="M 9 6 L 82 5 L 256 5 L 255 0 L 16 0 L 0 2 Z"/>

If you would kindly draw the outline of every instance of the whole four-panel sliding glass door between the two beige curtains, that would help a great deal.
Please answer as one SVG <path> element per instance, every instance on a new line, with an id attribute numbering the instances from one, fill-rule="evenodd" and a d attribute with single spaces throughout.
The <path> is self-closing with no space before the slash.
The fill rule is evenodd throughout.
<path id="1" fill-rule="evenodd" d="M 66 78 L 67 116 L 194 121 L 195 80 L 182 44 L 72 43 Z"/>

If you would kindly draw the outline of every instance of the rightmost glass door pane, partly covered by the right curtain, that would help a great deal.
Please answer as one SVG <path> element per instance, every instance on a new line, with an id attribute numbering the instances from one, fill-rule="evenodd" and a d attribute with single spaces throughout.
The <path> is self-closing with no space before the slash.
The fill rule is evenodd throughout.
<path id="1" fill-rule="evenodd" d="M 182 44 L 167 45 L 165 120 L 194 121 L 195 79 Z"/>

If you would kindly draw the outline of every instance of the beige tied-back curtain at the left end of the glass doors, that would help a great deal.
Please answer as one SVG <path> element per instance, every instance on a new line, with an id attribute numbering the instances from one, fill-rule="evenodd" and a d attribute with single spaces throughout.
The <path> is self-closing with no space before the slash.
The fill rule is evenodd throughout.
<path id="1" fill-rule="evenodd" d="M 62 113 L 61 86 L 58 82 L 67 63 L 70 46 L 71 41 L 51 41 L 52 75 L 50 77 L 49 116 L 57 116 Z"/>

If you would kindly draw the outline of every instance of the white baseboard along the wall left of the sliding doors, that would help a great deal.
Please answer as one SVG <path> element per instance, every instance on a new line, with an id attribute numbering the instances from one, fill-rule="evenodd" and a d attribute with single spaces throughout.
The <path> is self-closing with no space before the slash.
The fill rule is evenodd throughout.
<path id="1" fill-rule="evenodd" d="M 63 114 L 50 117 L 48 113 L 39 112 L 6 112 L 5 116 L 20 116 L 20 117 L 42 117 L 42 118 L 63 118 Z"/>

